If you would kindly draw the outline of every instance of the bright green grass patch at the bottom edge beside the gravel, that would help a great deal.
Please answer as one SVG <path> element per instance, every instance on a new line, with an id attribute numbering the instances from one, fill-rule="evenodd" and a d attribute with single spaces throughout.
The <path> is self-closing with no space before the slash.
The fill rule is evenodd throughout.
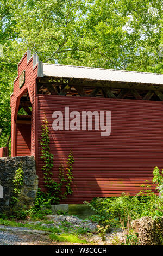
<path id="1" fill-rule="evenodd" d="M 49 235 L 52 241 L 57 242 L 70 242 L 70 243 L 87 243 L 85 239 L 80 239 L 78 235 L 62 233 L 60 235 L 52 233 Z"/>

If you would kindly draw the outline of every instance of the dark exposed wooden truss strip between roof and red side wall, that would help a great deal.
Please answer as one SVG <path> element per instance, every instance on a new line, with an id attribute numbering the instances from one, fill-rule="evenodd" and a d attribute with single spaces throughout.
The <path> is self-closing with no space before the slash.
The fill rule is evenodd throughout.
<path id="1" fill-rule="evenodd" d="M 37 93 L 81 97 L 108 97 L 163 101 L 163 86 L 44 77 L 37 81 Z"/>

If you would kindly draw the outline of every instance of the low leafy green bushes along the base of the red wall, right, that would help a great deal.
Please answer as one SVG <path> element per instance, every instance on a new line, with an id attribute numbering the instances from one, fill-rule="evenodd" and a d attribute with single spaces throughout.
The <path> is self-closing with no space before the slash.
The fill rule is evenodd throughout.
<path id="1" fill-rule="evenodd" d="M 132 220 L 143 216 L 155 217 L 158 209 L 162 208 L 162 200 L 154 193 L 149 196 L 140 196 L 139 193 L 134 197 L 123 194 L 117 198 L 97 198 L 95 203 L 99 213 L 91 219 L 103 225 L 112 222 L 112 226 L 119 223 L 120 217 L 127 220 L 128 214 Z"/>

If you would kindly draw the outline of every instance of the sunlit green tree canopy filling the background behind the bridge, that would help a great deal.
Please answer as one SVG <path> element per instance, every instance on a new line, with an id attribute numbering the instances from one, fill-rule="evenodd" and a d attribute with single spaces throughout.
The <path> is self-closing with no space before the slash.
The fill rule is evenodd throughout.
<path id="1" fill-rule="evenodd" d="M 0 147 L 10 139 L 10 94 L 27 49 L 43 62 L 161 73 L 162 42 L 160 0 L 0 0 Z"/>

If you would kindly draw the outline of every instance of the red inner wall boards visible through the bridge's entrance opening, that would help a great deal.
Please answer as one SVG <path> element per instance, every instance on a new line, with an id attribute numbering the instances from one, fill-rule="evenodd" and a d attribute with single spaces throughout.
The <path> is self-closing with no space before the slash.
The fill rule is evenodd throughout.
<path id="1" fill-rule="evenodd" d="M 16 124 L 16 156 L 30 156 L 31 124 Z"/>

